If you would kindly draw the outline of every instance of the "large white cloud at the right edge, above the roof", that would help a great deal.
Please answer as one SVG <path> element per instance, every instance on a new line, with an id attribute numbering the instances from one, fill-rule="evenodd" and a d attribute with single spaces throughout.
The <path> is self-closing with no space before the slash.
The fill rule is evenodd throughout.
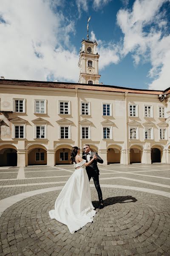
<path id="1" fill-rule="evenodd" d="M 154 90 L 170 86 L 170 35 L 165 33 L 166 12 L 160 12 L 167 1 L 136 0 L 131 12 L 120 9 L 117 13 L 117 23 L 124 33 L 122 57 L 131 52 L 135 64 L 141 59 L 150 61 L 153 82 L 149 88 Z"/>

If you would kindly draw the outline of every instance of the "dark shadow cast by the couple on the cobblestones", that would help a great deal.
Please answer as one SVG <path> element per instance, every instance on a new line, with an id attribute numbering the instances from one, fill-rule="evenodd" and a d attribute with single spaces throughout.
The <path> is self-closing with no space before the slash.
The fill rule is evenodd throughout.
<path id="1" fill-rule="evenodd" d="M 135 203 L 137 201 L 136 198 L 134 198 L 131 195 L 125 195 L 125 196 L 114 196 L 112 198 L 106 198 L 103 202 L 103 206 L 106 207 L 108 205 L 113 204 L 126 204 L 126 203 Z M 93 206 L 96 208 L 99 207 L 99 201 L 92 201 Z"/>

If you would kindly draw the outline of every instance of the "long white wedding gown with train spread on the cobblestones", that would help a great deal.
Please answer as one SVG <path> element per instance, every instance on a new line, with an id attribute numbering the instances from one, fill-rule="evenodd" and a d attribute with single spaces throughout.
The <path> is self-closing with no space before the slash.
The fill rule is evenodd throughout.
<path id="1" fill-rule="evenodd" d="M 91 202 L 91 191 L 88 175 L 82 160 L 60 192 L 55 209 L 49 211 L 50 218 L 68 226 L 71 234 L 93 221 L 96 213 Z"/>

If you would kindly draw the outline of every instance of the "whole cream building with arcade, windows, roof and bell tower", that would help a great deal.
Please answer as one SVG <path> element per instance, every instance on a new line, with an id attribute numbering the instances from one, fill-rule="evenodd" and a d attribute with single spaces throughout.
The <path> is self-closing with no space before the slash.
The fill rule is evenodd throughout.
<path id="1" fill-rule="evenodd" d="M 77 84 L 0 79 L 0 166 L 68 164 L 85 143 L 104 164 L 170 163 L 170 88 L 99 84 L 96 47 L 82 41 Z"/>

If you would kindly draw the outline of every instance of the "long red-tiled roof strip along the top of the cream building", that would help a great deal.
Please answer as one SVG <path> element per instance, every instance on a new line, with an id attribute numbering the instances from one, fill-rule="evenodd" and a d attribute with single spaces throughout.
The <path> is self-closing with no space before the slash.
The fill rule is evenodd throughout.
<path id="1" fill-rule="evenodd" d="M 55 87 L 55 88 L 67 88 L 67 89 L 83 89 L 83 90 L 97 90 L 97 91 L 111 91 L 120 93 L 145 93 L 145 94 L 162 94 L 164 91 L 158 90 L 142 90 L 133 89 L 127 87 L 118 87 L 112 85 L 101 84 L 77 84 L 77 83 L 65 83 L 65 82 L 49 82 L 49 81 L 28 81 L 28 80 L 10 80 L 0 79 L 0 84 L 4 85 L 22 85 L 22 86 L 36 86 L 36 87 Z M 170 93 L 170 88 L 167 89 Z"/>

